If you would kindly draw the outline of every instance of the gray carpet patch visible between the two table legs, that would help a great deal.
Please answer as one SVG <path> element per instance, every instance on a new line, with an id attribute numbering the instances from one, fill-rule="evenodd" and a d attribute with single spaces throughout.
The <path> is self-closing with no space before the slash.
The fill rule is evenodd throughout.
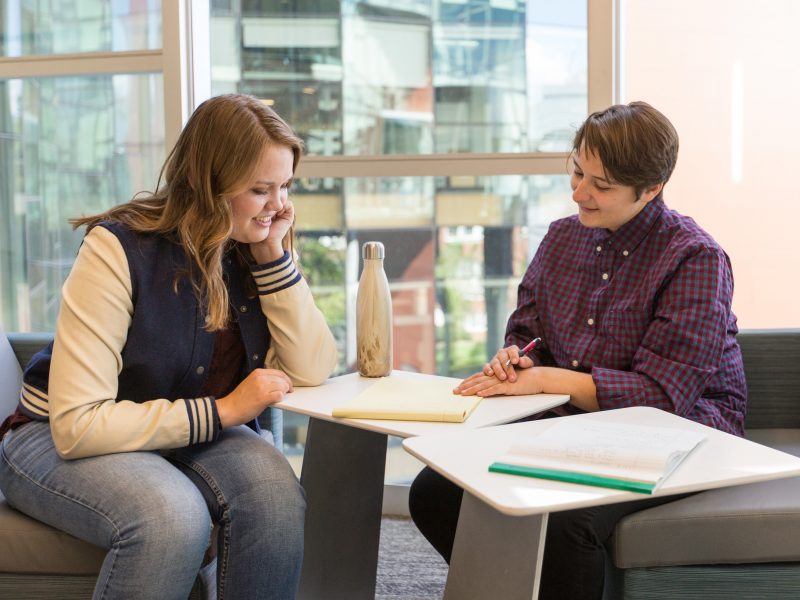
<path id="1" fill-rule="evenodd" d="M 440 600 L 447 563 L 411 519 L 384 517 L 375 600 Z"/>

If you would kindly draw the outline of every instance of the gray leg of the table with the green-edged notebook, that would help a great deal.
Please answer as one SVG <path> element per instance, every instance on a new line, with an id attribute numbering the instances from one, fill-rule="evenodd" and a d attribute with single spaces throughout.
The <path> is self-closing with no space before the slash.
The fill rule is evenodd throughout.
<path id="1" fill-rule="evenodd" d="M 505 515 L 464 492 L 445 600 L 539 596 L 547 514 Z"/>

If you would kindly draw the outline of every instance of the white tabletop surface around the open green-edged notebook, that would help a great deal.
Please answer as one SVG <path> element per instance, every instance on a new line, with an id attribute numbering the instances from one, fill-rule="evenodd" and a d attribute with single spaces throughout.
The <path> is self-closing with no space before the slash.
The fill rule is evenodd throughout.
<path id="1" fill-rule="evenodd" d="M 706 441 L 667 478 L 654 494 L 657 496 L 800 475 L 800 458 L 656 408 L 638 406 L 565 418 L 704 431 Z M 554 419 L 545 419 L 418 437 L 403 440 L 403 447 L 440 474 L 508 515 L 549 513 L 649 497 L 648 494 L 488 471 L 489 465 L 504 454 L 513 441 L 535 435 L 553 424 Z"/>

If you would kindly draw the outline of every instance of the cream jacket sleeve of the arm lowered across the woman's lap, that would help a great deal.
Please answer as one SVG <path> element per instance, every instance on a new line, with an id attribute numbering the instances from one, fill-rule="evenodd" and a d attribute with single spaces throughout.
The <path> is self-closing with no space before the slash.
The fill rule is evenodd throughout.
<path id="1" fill-rule="evenodd" d="M 125 251 L 95 227 L 64 283 L 56 323 L 48 403 L 62 458 L 177 448 L 219 435 L 213 398 L 117 398 L 132 314 Z"/>

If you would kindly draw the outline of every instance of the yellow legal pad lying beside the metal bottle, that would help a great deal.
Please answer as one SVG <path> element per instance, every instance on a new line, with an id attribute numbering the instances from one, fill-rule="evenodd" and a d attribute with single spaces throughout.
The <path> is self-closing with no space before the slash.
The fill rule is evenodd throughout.
<path id="1" fill-rule="evenodd" d="M 415 381 L 382 377 L 366 390 L 333 409 L 334 417 L 390 421 L 463 423 L 481 401 L 479 396 L 456 396 L 453 379 Z"/>

